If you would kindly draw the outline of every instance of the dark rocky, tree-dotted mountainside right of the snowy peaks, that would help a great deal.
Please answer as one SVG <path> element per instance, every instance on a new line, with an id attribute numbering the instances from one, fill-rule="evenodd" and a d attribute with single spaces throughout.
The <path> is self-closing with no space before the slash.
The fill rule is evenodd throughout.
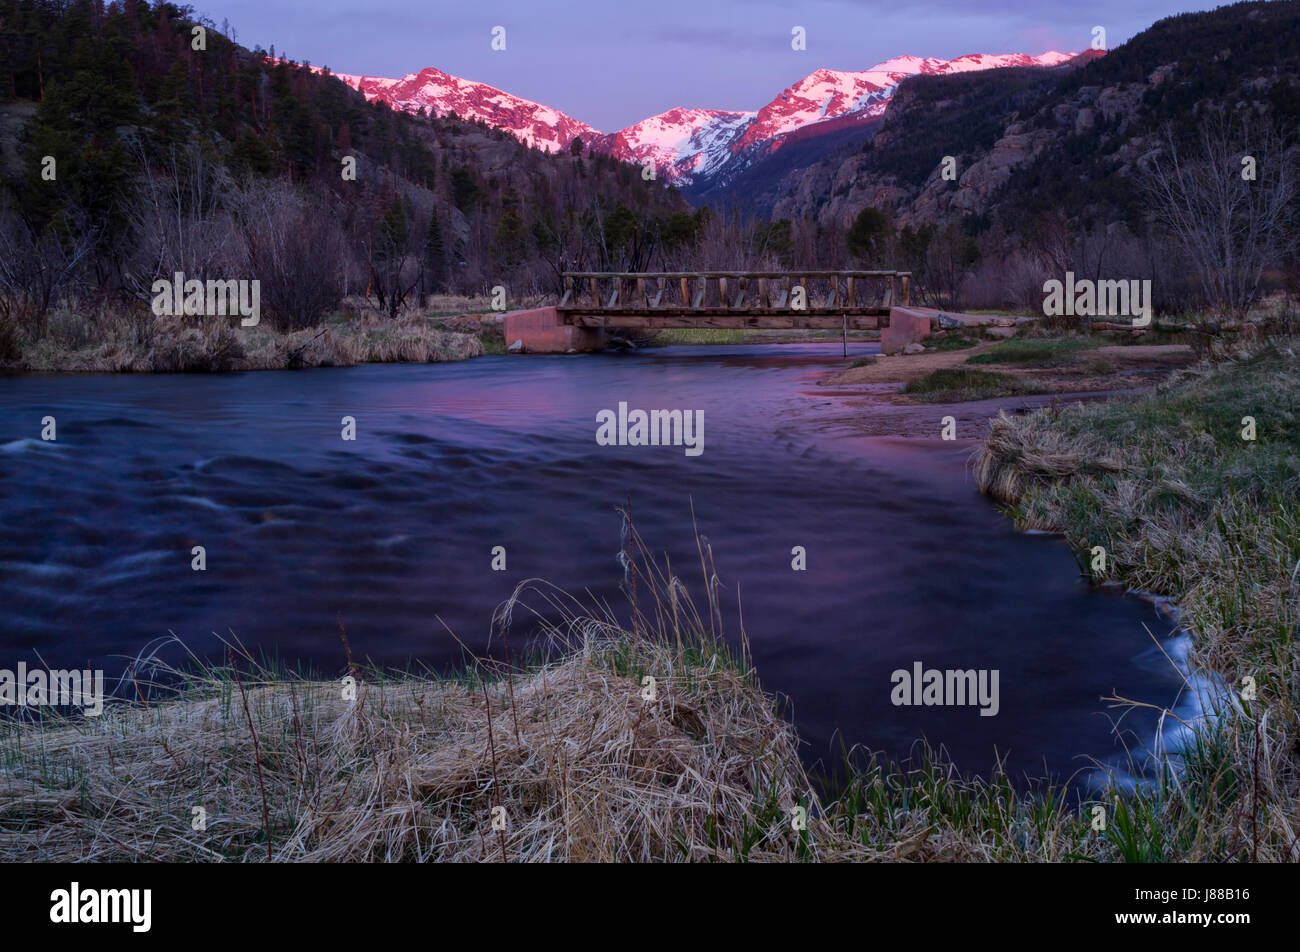
<path id="1" fill-rule="evenodd" d="M 1300 3 L 1239 3 L 1157 21 L 1072 69 L 916 75 L 870 140 L 736 189 L 775 218 L 822 228 L 846 228 L 866 205 L 898 225 L 997 220 L 1023 233 L 1063 217 L 1139 228 L 1148 209 L 1138 173 L 1166 135 L 1195 150 L 1213 113 L 1295 127 L 1296 36 Z M 945 156 L 956 161 L 948 179 Z"/>

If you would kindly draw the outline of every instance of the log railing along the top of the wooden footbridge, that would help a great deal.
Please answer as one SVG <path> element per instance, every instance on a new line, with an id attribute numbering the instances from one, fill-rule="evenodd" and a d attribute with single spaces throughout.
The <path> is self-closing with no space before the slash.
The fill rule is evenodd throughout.
<path id="1" fill-rule="evenodd" d="M 564 272 L 559 310 L 585 313 L 880 312 L 910 298 L 907 271 Z"/>

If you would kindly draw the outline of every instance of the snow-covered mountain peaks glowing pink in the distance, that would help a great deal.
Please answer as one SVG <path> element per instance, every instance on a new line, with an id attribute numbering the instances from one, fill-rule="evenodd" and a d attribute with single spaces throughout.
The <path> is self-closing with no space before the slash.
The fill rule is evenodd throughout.
<path id="1" fill-rule="evenodd" d="M 1057 66 L 1071 59 L 1056 51 L 1040 56 L 971 53 L 956 60 L 898 56 L 859 72 L 819 69 L 757 112 L 676 108 L 610 134 L 559 109 L 433 68 L 400 79 L 334 75 L 372 101 L 382 100 L 406 112 L 422 108 L 436 116 L 454 112 L 504 129 L 545 151 L 567 148 L 581 137 L 597 152 L 651 164 L 664 181 L 703 190 L 725 185 L 796 139 L 868 126 L 880 118 L 898 83 L 909 77 Z"/>

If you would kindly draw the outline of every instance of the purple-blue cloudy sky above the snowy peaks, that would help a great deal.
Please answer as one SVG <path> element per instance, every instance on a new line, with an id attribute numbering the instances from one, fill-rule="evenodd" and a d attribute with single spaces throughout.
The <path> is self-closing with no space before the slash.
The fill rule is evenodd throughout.
<path id="1" fill-rule="evenodd" d="M 1188 0 L 192 0 L 247 47 L 339 73 L 437 66 L 614 131 L 676 105 L 757 109 L 820 68 L 1115 47 Z M 506 51 L 490 47 L 506 27 Z M 807 49 L 790 49 L 790 30 Z"/>

